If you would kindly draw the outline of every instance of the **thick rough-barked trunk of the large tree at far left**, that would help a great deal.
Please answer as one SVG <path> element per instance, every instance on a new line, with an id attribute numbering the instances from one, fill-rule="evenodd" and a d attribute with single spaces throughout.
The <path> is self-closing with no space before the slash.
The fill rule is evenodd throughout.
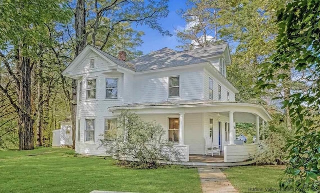
<path id="1" fill-rule="evenodd" d="M 20 72 L 20 84 L 17 87 L 18 95 L 18 133 L 19 150 L 33 149 L 33 120 L 31 115 L 31 67 L 30 59 L 19 58 L 18 71 Z"/>

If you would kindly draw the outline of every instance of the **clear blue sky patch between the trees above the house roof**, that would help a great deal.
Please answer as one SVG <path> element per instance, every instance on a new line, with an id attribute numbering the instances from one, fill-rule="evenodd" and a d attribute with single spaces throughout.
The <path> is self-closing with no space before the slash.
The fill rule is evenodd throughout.
<path id="1" fill-rule="evenodd" d="M 168 2 L 169 14 L 166 18 L 160 19 L 159 23 L 163 29 L 170 31 L 172 34 L 169 36 L 162 36 L 158 31 L 148 28 L 147 26 L 134 26 L 136 30 L 144 31 L 145 35 L 142 37 L 143 44 L 138 47 L 143 51 L 143 54 L 147 54 L 150 51 L 155 51 L 163 47 L 168 47 L 177 50 L 175 46 L 179 43 L 174 36 L 174 28 L 181 28 L 185 25 L 185 21 L 177 14 L 177 10 L 185 8 L 185 0 L 170 0 Z"/>

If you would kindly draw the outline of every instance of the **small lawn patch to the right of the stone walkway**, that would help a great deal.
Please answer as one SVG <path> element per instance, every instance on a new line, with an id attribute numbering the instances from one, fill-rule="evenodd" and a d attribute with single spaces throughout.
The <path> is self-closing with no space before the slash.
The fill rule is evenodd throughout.
<path id="1" fill-rule="evenodd" d="M 223 172 L 240 193 L 267 193 L 281 192 L 278 180 L 281 178 L 283 170 L 284 167 L 280 166 L 240 166 L 226 169 Z M 259 190 L 253 191 L 252 188 Z"/>

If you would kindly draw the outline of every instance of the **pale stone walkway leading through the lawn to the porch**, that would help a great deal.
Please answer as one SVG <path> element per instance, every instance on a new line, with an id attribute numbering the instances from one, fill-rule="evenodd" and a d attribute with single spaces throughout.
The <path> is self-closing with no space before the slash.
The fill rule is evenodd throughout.
<path id="1" fill-rule="evenodd" d="M 237 193 L 217 168 L 198 168 L 202 193 Z"/>

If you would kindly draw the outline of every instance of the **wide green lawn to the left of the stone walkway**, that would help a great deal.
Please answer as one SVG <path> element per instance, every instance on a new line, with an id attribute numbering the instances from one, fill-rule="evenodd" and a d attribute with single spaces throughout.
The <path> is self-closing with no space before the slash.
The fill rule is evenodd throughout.
<path id="1" fill-rule="evenodd" d="M 164 166 L 124 169 L 102 157 L 73 156 L 70 149 L 0 151 L 2 193 L 200 193 L 196 169 Z"/>

